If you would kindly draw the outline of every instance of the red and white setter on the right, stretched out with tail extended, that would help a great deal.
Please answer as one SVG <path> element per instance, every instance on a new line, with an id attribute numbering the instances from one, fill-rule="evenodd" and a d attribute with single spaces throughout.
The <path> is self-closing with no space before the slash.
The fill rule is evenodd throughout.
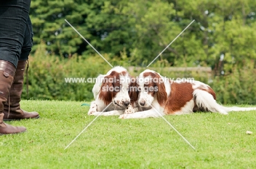
<path id="1" fill-rule="evenodd" d="M 137 79 L 139 112 L 119 118 L 160 117 L 165 114 L 188 114 L 196 111 L 250 111 L 256 107 L 224 107 L 216 102 L 212 88 L 199 81 L 171 81 L 152 70 L 144 70 Z"/>

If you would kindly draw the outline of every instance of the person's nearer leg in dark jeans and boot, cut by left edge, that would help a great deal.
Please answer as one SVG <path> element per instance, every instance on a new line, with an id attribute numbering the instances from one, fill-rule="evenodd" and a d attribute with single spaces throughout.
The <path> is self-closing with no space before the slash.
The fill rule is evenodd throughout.
<path id="1" fill-rule="evenodd" d="M 3 123 L 3 107 L 20 58 L 31 0 L 0 1 L 0 134 L 26 131 Z"/>

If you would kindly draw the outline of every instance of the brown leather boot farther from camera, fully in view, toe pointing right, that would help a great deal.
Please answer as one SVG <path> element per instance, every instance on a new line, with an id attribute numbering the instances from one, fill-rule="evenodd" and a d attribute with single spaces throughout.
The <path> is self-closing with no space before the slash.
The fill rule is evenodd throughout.
<path id="1" fill-rule="evenodd" d="M 26 118 L 39 118 L 37 112 L 26 112 L 20 108 L 21 93 L 24 82 L 24 71 L 26 61 L 19 61 L 14 76 L 13 85 L 10 88 L 10 95 L 4 104 L 4 120 L 20 120 Z"/>

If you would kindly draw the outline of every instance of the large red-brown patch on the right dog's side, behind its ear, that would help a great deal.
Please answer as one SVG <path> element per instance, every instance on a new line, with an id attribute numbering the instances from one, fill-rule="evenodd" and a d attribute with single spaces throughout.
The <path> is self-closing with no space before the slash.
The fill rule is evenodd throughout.
<path id="1" fill-rule="evenodd" d="M 165 112 L 167 114 L 174 114 L 174 112 L 181 110 L 188 101 L 193 99 L 193 92 L 191 83 L 173 82 L 171 94 L 166 102 Z"/>

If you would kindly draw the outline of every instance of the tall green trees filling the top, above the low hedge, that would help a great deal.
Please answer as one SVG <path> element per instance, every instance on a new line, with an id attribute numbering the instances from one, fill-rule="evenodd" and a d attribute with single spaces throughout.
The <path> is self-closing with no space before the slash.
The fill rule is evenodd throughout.
<path id="1" fill-rule="evenodd" d="M 34 48 L 44 40 L 46 49 L 59 56 L 95 51 L 68 25 L 77 29 L 100 53 L 119 59 L 126 50 L 132 65 L 148 65 L 162 53 L 168 65 L 218 67 L 224 53 L 225 73 L 232 64 L 256 59 L 255 8 L 253 0 L 228 1 L 32 1 Z M 50 10 L 49 10 L 50 9 Z"/>

